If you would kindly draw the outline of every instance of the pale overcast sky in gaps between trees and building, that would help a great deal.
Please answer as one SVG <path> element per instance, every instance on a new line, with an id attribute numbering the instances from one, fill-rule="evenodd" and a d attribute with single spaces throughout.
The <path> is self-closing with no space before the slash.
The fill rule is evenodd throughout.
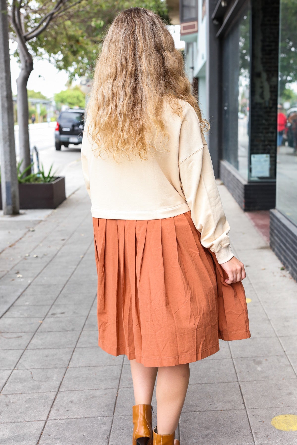
<path id="1" fill-rule="evenodd" d="M 170 26 L 170 32 L 175 40 L 177 48 L 183 48 L 184 42 L 179 40 L 179 25 Z M 15 44 L 11 44 L 11 53 L 15 49 Z M 15 57 L 10 58 L 12 93 L 16 94 L 16 79 L 20 72 L 20 67 Z M 68 74 L 65 71 L 57 70 L 48 61 L 34 61 L 34 69 L 28 80 L 28 89 L 40 91 L 46 97 L 52 98 L 55 93 L 66 89 Z"/>

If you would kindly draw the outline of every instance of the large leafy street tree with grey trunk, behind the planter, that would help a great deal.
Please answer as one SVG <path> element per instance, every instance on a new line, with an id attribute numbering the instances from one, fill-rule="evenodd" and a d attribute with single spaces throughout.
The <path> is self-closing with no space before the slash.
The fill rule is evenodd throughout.
<path id="1" fill-rule="evenodd" d="M 48 57 L 70 77 L 91 73 L 104 32 L 118 12 L 141 6 L 168 19 L 162 0 L 8 0 L 10 38 L 20 61 L 17 83 L 21 169 L 30 165 L 27 83 L 33 57 Z"/>

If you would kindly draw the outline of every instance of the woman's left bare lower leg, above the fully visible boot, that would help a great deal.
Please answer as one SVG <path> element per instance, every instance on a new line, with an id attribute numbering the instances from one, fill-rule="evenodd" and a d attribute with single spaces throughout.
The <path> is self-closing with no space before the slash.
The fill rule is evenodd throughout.
<path id="1" fill-rule="evenodd" d="M 151 405 L 158 368 L 149 368 L 130 360 L 135 405 Z"/>

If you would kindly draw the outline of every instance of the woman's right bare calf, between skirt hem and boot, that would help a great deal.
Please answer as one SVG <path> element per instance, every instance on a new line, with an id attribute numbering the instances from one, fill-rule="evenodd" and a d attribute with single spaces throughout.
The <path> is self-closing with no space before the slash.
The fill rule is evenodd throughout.
<path id="1" fill-rule="evenodd" d="M 189 364 L 159 368 L 157 380 L 158 434 L 173 434 L 175 432 L 186 398 L 189 378 Z"/>

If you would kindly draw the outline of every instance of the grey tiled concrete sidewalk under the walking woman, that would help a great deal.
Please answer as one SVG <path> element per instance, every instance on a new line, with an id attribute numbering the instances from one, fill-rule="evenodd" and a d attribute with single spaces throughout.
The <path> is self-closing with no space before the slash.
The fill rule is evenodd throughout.
<path id="1" fill-rule="evenodd" d="M 219 352 L 191 364 L 181 445 L 294 445 L 297 431 L 271 421 L 297 416 L 297 283 L 219 190 L 232 247 L 246 266 L 252 338 L 221 341 Z M 0 276 L 0 444 L 130 445 L 130 365 L 97 346 L 84 188 L 4 249 Z M 153 405 L 156 412 L 155 396 Z M 275 424 L 296 430 L 296 418 Z"/>

